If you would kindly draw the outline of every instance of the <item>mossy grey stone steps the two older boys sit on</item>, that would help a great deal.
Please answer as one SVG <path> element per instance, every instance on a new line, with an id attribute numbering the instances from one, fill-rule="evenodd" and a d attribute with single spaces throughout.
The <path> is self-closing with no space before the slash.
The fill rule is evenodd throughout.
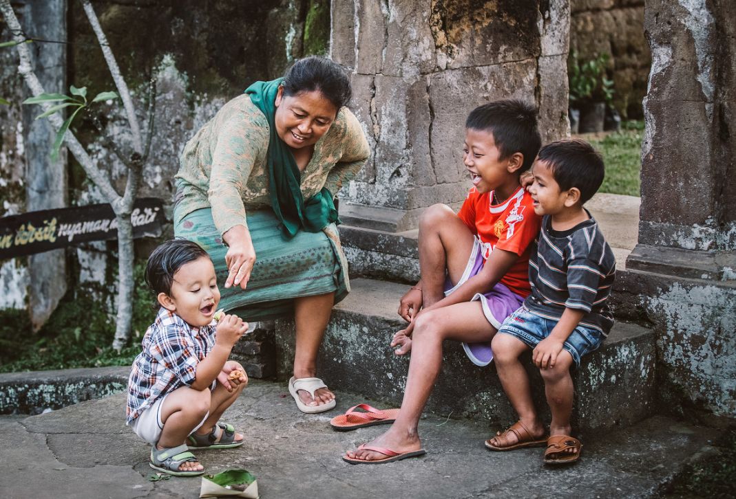
<path id="1" fill-rule="evenodd" d="M 575 370 L 576 418 L 581 431 L 628 426 L 654 412 L 656 345 L 650 329 L 620 320 L 637 317 L 631 301 L 626 256 L 637 242 L 639 198 L 599 194 L 587 204 L 618 260 L 618 281 L 612 297 L 618 320 L 604 346 Z M 346 220 L 347 221 L 347 220 Z M 408 357 L 389 347 L 405 323 L 397 315 L 406 283 L 419 274 L 417 231 L 390 233 L 344 225 L 340 233 L 350 260 L 353 291 L 333 310 L 319 356 L 320 372 L 330 387 L 366 398 L 400 405 Z M 355 276 L 360 276 L 357 279 Z M 397 284 L 397 282 L 404 284 Z M 275 323 L 277 376 L 291 376 L 294 324 Z M 545 407 L 538 370 L 526 365 L 533 379 L 537 405 Z M 358 403 L 359 401 L 355 401 Z M 428 412 L 472 417 L 503 425 L 514 420 L 495 367 L 477 367 L 456 342 L 446 342 L 445 362 Z"/>

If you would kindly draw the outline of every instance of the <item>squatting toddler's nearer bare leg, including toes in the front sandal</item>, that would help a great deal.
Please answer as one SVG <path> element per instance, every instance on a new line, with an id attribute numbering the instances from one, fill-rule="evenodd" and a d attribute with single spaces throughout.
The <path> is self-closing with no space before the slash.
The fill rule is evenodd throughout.
<path id="1" fill-rule="evenodd" d="M 158 450 L 182 445 L 205 414 L 210 410 L 210 390 L 202 391 L 190 387 L 180 387 L 166 395 L 161 404 L 161 423 L 163 430 L 156 443 Z M 199 462 L 183 462 L 180 471 L 202 471 Z"/>

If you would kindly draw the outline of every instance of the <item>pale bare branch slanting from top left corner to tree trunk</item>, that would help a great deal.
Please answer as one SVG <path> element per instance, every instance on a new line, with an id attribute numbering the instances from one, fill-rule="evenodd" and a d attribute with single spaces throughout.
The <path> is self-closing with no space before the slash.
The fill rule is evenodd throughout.
<path id="1" fill-rule="evenodd" d="M 18 49 L 18 56 L 20 57 L 18 71 L 21 73 L 21 76 L 23 76 L 26 85 L 31 89 L 33 96 L 40 96 L 40 94 L 45 93 L 45 90 L 43 90 L 43 86 L 40 84 L 38 77 L 33 72 L 31 53 L 28 50 L 28 46 L 23 43 L 24 40 L 26 40 L 26 37 L 23 33 L 23 29 L 21 28 L 21 24 L 18 22 L 18 18 L 15 16 L 13 7 L 10 6 L 10 0 L 0 0 L 0 12 L 2 12 L 5 22 L 10 27 L 10 32 L 13 34 L 13 40 L 18 42 L 18 45 L 15 46 L 15 48 Z M 44 111 L 47 111 L 52 107 L 52 104 L 42 103 L 40 106 Z M 49 116 L 49 122 L 52 124 L 54 129 L 60 130 L 63 124 L 63 119 L 60 115 L 54 113 Z M 105 195 L 105 198 L 107 198 L 107 201 L 109 201 L 113 206 L 113 209 L 116 209 L 120 204 L 121 197 L 113 188 L 113 184 L 110 182 L 110 179 L 102 173 L 100 168 L 97 168 L 92 161 L 92 158 L 87 154 L 87 151 L 85 151 L 85 148 L 81 143 L 79 143 L 79 140 L 77 140 L 77 137 L 73 132 L 71 132 L 71 130 L 67 130 L 66 134 L 64 134 L 64 141 L 66 142 L 66 146 L 69 148 L 71 154 L 74 155 L 79 164 L 82 165 L 82 168 L 84 168 L 87 176 L 99 188 L 99 190 L 102 191 L 102 194 Z"/>

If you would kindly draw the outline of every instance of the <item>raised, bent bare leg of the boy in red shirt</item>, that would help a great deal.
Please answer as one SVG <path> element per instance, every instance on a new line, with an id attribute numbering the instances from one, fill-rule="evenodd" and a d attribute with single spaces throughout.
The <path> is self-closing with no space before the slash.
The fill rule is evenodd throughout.
<path id="1" fill-rule="evenodd" d="M 473 233 L 446 204 L 434 204 L 425 210 L 419 224 L 423 306 L 445 297 L 445 276 L 450 276 L 453 283 L 460 280 L 473 251 L 473 240 Z"/>

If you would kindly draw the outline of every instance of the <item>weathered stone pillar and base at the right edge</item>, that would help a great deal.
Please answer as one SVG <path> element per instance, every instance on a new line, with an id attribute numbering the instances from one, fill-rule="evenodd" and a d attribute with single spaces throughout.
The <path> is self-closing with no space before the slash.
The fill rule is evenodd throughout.
<path id="1" fill-rule="evenodd" d="M 736 417 L 736 29 L 729 0 L 648 0 L 639 244 L 626 262 L 670 394 Z"/>

